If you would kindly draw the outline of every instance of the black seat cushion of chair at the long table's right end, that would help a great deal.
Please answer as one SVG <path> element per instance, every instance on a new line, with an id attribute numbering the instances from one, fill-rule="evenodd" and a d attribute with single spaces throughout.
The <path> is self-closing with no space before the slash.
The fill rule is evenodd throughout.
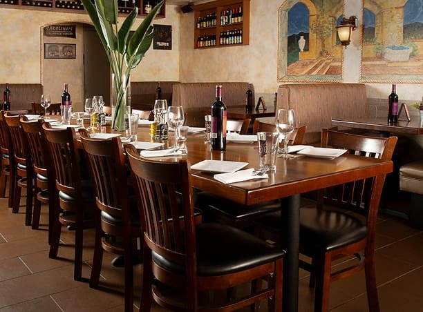
<path id="1" fill-rule="evenodd" d="M 313 255 L 352 244 L 367 235 L 367 226 L 357 217 L 339 211 L 302 208 L 301 253 Z"/>

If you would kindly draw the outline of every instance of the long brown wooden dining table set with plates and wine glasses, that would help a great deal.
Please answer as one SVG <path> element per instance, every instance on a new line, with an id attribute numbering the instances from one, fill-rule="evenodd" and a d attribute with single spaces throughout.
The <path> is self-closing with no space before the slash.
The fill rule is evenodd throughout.
<path id="1" fill-rule="evenodd" d="M 74 120 L 73 120 L 74 123 Z M 166 140 L 157 141 L 150 138 L 149 121 L 140 121 L 138 142 L 165 149 L 174 145 L 174 132 L 169 131 Z M 77 129 L 75 129 L 77 130 Z M 110 126 L 100 127 L 99 133 L 110 133 Z M 104 136 L 106 137 L 106 136 Z M 259 144 L 254 136 L 250 140 L 227 142 L 226 150 L 212 150 L 205 142 L 203 128 L 193 128 L 187 137 L 187 154 L 153 157 L 160 162 L 177 162 L 188 159 L 191 166 L 212 160 L 219 162 L 243 162 L 246 168 L 259 168 Z M 216 196 L 230 199 L 239 204 L 252 205 L 281 199 L 281 213 L 287 218 L 288 244 L 283 261 L 283 311 L 298 311 L 299 300 L 299 213 L 302 193 L 321 188 L 353 182 L 377 175 L 386 175 L 393 170 L 393 162 L 360 157 L 344 153 L 333 159 L 295 155 L 295 157 L 277 158 L 276 170 L 267 172 L 267 177 L 243 182 L 224 184 L 214 178 L 222 172 L 223 166 L 214 170 L 191 169 L 191 182 L 194 188 L 207 191 Z M 195 166 L 194 166 L 195 168 Z"/>

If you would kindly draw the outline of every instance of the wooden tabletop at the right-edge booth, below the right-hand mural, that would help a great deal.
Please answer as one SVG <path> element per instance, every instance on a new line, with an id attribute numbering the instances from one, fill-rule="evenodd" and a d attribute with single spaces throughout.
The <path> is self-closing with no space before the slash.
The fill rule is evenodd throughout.
<path id="1" fill-rule="evenodd" d="M 332 119 L 332 126 L 347 128 L 375 130 L 384 136 L 389 133 L 403 135 L 422 135 L 423 123 L 420 117 L 411 117 L 411 121 L 398 121 L 396 124 L 388 124 L 387 117 L 382 118 L 361 118 L 361 119 Z"/>

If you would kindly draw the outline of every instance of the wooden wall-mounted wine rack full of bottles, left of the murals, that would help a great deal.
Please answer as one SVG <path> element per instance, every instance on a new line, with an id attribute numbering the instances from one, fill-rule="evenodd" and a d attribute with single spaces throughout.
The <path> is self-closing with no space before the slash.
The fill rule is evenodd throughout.
<path id="1" fill-rule="evenodd" d="M 194 48 L 250 44 L 250 0 L 217 0 L 194 9 Z"/>

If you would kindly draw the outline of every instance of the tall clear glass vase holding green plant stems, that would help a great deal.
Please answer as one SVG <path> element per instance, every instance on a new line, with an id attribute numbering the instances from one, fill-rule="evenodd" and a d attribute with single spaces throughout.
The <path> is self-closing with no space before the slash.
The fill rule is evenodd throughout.
<path id="1" fill-rule="evenodd" d="M 131 113 L 131 79 L 125 74 L 112 74 L 112 124 L 113 131 L 126 135 Z"/>

